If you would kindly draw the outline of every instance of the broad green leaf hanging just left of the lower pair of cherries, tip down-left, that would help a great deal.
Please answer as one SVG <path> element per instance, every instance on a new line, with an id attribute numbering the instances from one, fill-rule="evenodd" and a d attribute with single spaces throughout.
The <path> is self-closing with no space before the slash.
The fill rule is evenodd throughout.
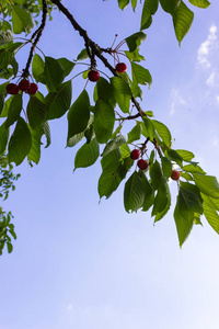
<path id="1" fill-rule="evenodd" d="M 106 157 L 108 157 L 112 154 L 113 152 L 108 154 Z M 103 159 L 106 159 L 106 157 L 104 157 Z M 106 196 L 106 198 L 108 198 L 112 195 L 112 193 L 118 188 L 119 183 L 123 180 L 118 172 L 119 166 L 119 161 L 114 161 L 110 162 L 106 167 L 104 167 L 104 170 L 99 179 L 100 197 Z"/>

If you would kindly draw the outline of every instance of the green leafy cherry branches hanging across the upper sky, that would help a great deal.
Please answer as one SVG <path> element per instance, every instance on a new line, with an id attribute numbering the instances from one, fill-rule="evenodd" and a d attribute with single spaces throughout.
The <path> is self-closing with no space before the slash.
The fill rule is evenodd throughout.
<path id="1" fill-rule="evenodd" d="M 146 41 L 143 31 L 152 24 L 152 18 L 160 5 L 171 15 L 175 36 L 181 45 L 194 19 L 188 7 L 207 8 L 210 3 L 208 0 L 189 0 L 187 3 L 182 0 L 117 2 L 122 10 L 131 5 L 135 11 L 137 5 L 141 5 L 139 31 L 134 31 L 117 46 L 113 44 L 103 48 L 89 37 L 74 20 L 73 13 L 59 0 L 1 1 L 0 78 L 4 81 L 0 84 L 0 154 L 7 152 L 8 161 L 16 166 L 26 158 L 31 164 L 37 164 L 43 135 L 46 136 L 45 147 L 50 145 L 49 121 L 67 114 L 67 146 L 73 147 L 83 140 L 76 154 L 74 170 L 92 166 L 101 157 L 102 173 L 97 183 L 100 197 L 108 198 L 125 180 L 126 212 L 151 211 L 151 217 L 158 222 L 171 207 L 169 181 L 173 179 L 178 189 L 174 219 L 180 246 L 189 235 L 193 225 L 201 224 L 201 215 L 219 234 L 218 181 L 194 161 L 193 152 L 173 149 L 170 129 L 164 123 L 154 120 L 151 111 L 146 112 L 141 107 L 142 88 L 150 88 L 152 77 L 142 66 L 145 58 L 139 53 L 141 43 Z M 70 21 L 72 33 L 79 32 L 79 37 L 84 41 L 84 48 L 78 56 L 76 54 L 76 61 L 53 58 L 49 54 L 39 52 L 38 42 L 48 24 L 47 16 L 49 14 L 51 18 L 56 8 Z M 23 36 L 23 33 L 25 39 L 21 37 L 18 41 L 18 36 Z M 123 44 L 127 46 L 124 53 L 131 67 L 130 77 L 126 69 L 117 67 Z M 26 54 L 26 66 L 20 67 L 16 54 L 26 45 L 31 45 L 31 50 Z M 78 76 L 73 73 L 74 67 L 83 60 L 87 60 L 87 69 L 80 75 L 89 83 L 95 81 L 93 97 L 83 89 L 77 99 L 72 99 L 71 80 Z M 104 75 L 99 72 L 101 61 L 105 65 Z M 37 83 L 39 89 L 36 93 L 31 92 L 31 89 L 20 89 L 18 92 L 9 90 L 9 83 L 18 86 L 25 79 L 33 81 L 35 87 Z M 42 84 L 47 88 L 46 94 L 41 92 Z M 26 93 L 28 101 L 24 109 Z M 132 123 L 132 126 L 127 136 L 124 136 L 127 122 Z M 139 151 L 141 164 L 147 168 L 137 162 L 138 158 L 130 157 L 132 149 Z M 10 220 L 4 219 L 3 225 L 8 225 L 12 234 Z"/>

